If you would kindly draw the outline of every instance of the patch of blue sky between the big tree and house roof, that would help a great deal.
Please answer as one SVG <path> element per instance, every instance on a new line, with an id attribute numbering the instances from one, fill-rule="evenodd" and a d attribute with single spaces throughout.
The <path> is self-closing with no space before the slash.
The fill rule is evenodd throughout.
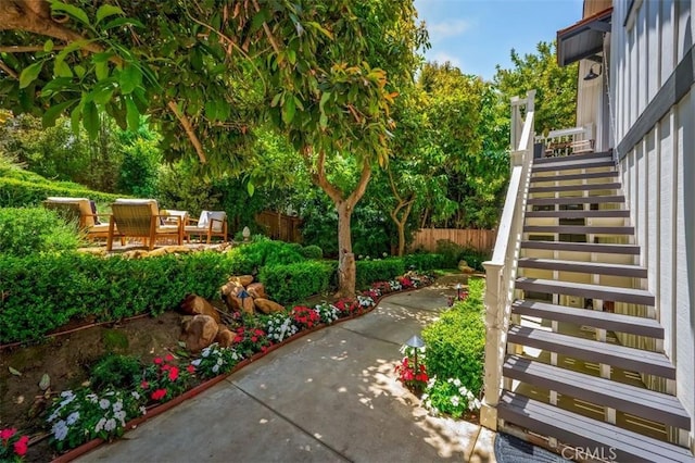
<path id="1" fill-rule="evenodd" d="M 583 0 L 415 0 L 432 48 L 428 61 L 451 61 L 465 74 L 490 80 L 495 65 L 509 68 L 509 51 L 533 53 L 557 30 L 582 17 Z"/>

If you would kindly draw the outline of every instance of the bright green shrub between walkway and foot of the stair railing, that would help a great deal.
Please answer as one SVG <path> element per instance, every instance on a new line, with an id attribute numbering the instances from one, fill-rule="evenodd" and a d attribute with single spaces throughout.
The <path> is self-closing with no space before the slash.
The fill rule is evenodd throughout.
<path id="1" fill-rule="evenodd" d="M 458 378 L 475 396 L 483 384 L 485 325 L 483 279 L 470 279 L 468 299 L 457 302 L 422 330 L 427 372 L 439 378 Z"/>

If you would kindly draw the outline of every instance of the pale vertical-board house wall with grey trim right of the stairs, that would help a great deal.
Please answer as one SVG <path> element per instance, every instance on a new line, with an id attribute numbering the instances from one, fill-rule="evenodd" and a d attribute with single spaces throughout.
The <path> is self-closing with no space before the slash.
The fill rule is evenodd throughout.
<path id="1" fill-rule="evenodd" d="M 644 0 L 629 17 L 629 4 L 614 2 L 610 37 L 616 155 L 677 395 L 695 414 L 695 7 Z"/>

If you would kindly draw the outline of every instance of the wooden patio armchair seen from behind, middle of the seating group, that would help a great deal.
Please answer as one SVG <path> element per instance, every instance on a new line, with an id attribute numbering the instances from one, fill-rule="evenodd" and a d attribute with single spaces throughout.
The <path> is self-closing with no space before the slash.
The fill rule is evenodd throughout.
<path id="1" fill-rule="evenodd" d="M 113 239 L 118 237 L 141 238 L 151 251 L 157 238 L 175 238 L 180 246 L 184 240 L 184 224 L 178 216 L 170 218 L 175 224 L 165 224 L 153 199 L 117 199 L 111 204 L 112 220 L 109 226 L 106 250 L 113 249 Z"/>

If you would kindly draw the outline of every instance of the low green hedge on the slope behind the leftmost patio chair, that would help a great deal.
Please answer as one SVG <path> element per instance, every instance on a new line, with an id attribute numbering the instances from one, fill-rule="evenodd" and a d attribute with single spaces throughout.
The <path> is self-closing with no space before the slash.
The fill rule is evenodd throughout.
<path id="1" fill-rule="evenodd" d="M 40 177 L 39 178 L 43 178 Z M 99 203 L 110 203 L 123 195 L 111 195 L 90 190 L 68 182 L 36 182 L 12 177 L 0 177 L 0 208 L 38 205 L 49 196 L 89 198 Z"/>

